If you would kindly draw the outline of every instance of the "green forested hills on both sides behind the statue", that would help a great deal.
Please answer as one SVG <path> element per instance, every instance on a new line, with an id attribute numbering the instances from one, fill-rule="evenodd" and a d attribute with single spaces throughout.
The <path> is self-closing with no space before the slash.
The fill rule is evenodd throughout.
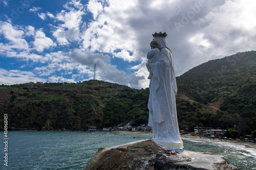
<path id="1" fill-rule="evenodd" d="M 256 130 L 256 52 L 211 60 L 177 77 L 180 130 L 196 126 Z M 147 123 L 149 90 L 90 80 L 26 83 L 0 87 L 0 127 L 86 130 Z"/>

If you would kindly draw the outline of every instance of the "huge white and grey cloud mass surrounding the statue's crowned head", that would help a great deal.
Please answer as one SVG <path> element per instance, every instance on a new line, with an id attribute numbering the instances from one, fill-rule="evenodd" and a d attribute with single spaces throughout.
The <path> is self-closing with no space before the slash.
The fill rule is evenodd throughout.
<path id="1" fill-rule="evenodd" d="M 77 1 L 72 2 L 74 4 Z M 225 43 L 226 36 L 233 37 L 232 34 L 236 34 L 235 30 L 252 30 L 254 23 L 244 26 L 245 28 L 242 26 L 238 28 L 238 26 L 232 26 L 232 23 L 236 23 L 234 20 L 228 19 L 239 18 L 239 20 L 243 20 L 242 18 L 248 15 L 243 14 L 245 11 L 253 13 L 253 6 L 244 8 L 246 2 L 243 1 L 193 1 L 184 3 L 160 0 L 156 4 L 155 1 L 112 0 L 105 2 L 91 0 L 87 5 L 87 10 L 92 13 L 93 20 L 87 23 L 86 29 L 79 30 L 80 34 L 78 35 L 78 30 L 74 32 L 70 29 L 72 26 L 81 27 L 82 20 L 80 17 L 86 13 L 80 11 L 82 9 L 80 4 L 76 8 L 71 8 L 70 5 L 66 5 L 66 9 L 70 11 L 61 11 L 56 15 L 56 18 L 63 22 L 59 25 L 59 29 L 53 33 L 58 43 L 60 45 L 70 44 L 74 40 L 70 37 L 75 35 L 76 40 L 82 41 L 81 49 L 93 54 L 89 56 L 104 53 L 123 61 L 140 61 L 139 65 L 129 68 L 134 70 L 134 74 L 126 75 L 125 80 L 127 84 L 137 84 L 140 87 L 148 86 L 145 56 L 150 50 L 149 43 L 153 39 L 152 33 L 167 32 L 166 39 L 173 51 L 176 75 L 179 76 L 202 62 L 236 53 L 238 48 L 237 50 L 234 48 L 241 46 L 239 39 L 236 41 L 236 47 L 230 48 L 230 53 L 224 49 L 228 45 L 222 45 L 223 50 L 220 50 L 219 53 L 217 53 L 216 48 L 221 48 L 218 44 Z M 240 8 L 242 10 L 239 10 L 235 15 L 241 17 L 234 17 L 236 12 L 230 10 Z M 74 18 L 74 20 L 71 21 L 70 18 Z M 250 22 L 251 18 L 246 20 Z M 226 27 L 233 28 L 233 31 L 229 32 Z M 63 28 L 68 28 L 68 30 Z M 248 36 L 252 34 L 246 31 L 241 32 L 240 37 L 242 34 L 248 34 Z M 248 44 L 249 40 L 243 41 Z M 76 51 L 73 54 L 75 53 Z M 87 58 L 87 63 L 83 63 L 84 61 L 78 58 L 76 58 L 77 61 L 82 64 L 89 64 L 88 62 L 91 61 Z M 91 61 L 91 67 L 93 67 L 94 62 Z M 109 64 L 110 62 L 104 64 L 106 63 L 109 67 L 113 67 Z M 102 74 L 101 76 L 105 75 Z"/>

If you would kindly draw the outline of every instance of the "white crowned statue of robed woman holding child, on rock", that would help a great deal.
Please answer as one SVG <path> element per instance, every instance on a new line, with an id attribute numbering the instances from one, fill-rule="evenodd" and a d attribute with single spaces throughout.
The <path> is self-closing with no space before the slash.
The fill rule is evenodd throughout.
<path id="1" fill-rule="evenodd" d="M 172 52 L 168 48 L 166 33 L 153 34 L 151 51 L 147 54 L 150 72 L 150 110 L 148 126 L 153 127 L 153 141 L 167 150 L 184 151 L 176 112 L 177 84 Z M 158 45 L 156 45 L 156 42 Z"/>

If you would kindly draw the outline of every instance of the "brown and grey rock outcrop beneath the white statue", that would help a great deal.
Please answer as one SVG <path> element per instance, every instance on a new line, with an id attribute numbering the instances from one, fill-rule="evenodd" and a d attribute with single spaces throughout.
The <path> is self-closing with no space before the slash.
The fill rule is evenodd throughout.
<path id="1" fill-rule="evenodd" d="M 111 148 L 100 148 L 83 170 L 107 169 L 237 169 L 216 154 L 165 151 L 154 141 L 140 140 Z"/>

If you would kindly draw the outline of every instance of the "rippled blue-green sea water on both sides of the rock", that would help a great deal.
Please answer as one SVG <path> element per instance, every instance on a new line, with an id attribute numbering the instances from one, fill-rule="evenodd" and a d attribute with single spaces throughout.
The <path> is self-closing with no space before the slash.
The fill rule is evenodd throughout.
<path id="1" fill-rule="evenodd" d="M 4 140 L 4 132 L 2 139 Z M 1 142 L 0 169 L 83 169 L 101 147 L 152 138 L 151 134 L 84 131 L 9 131 L 8 166 Z M 256 169 L 256 151 L 232 142 L 182 139 L 185 150 L 226 156 L 238 169 Z"/>

